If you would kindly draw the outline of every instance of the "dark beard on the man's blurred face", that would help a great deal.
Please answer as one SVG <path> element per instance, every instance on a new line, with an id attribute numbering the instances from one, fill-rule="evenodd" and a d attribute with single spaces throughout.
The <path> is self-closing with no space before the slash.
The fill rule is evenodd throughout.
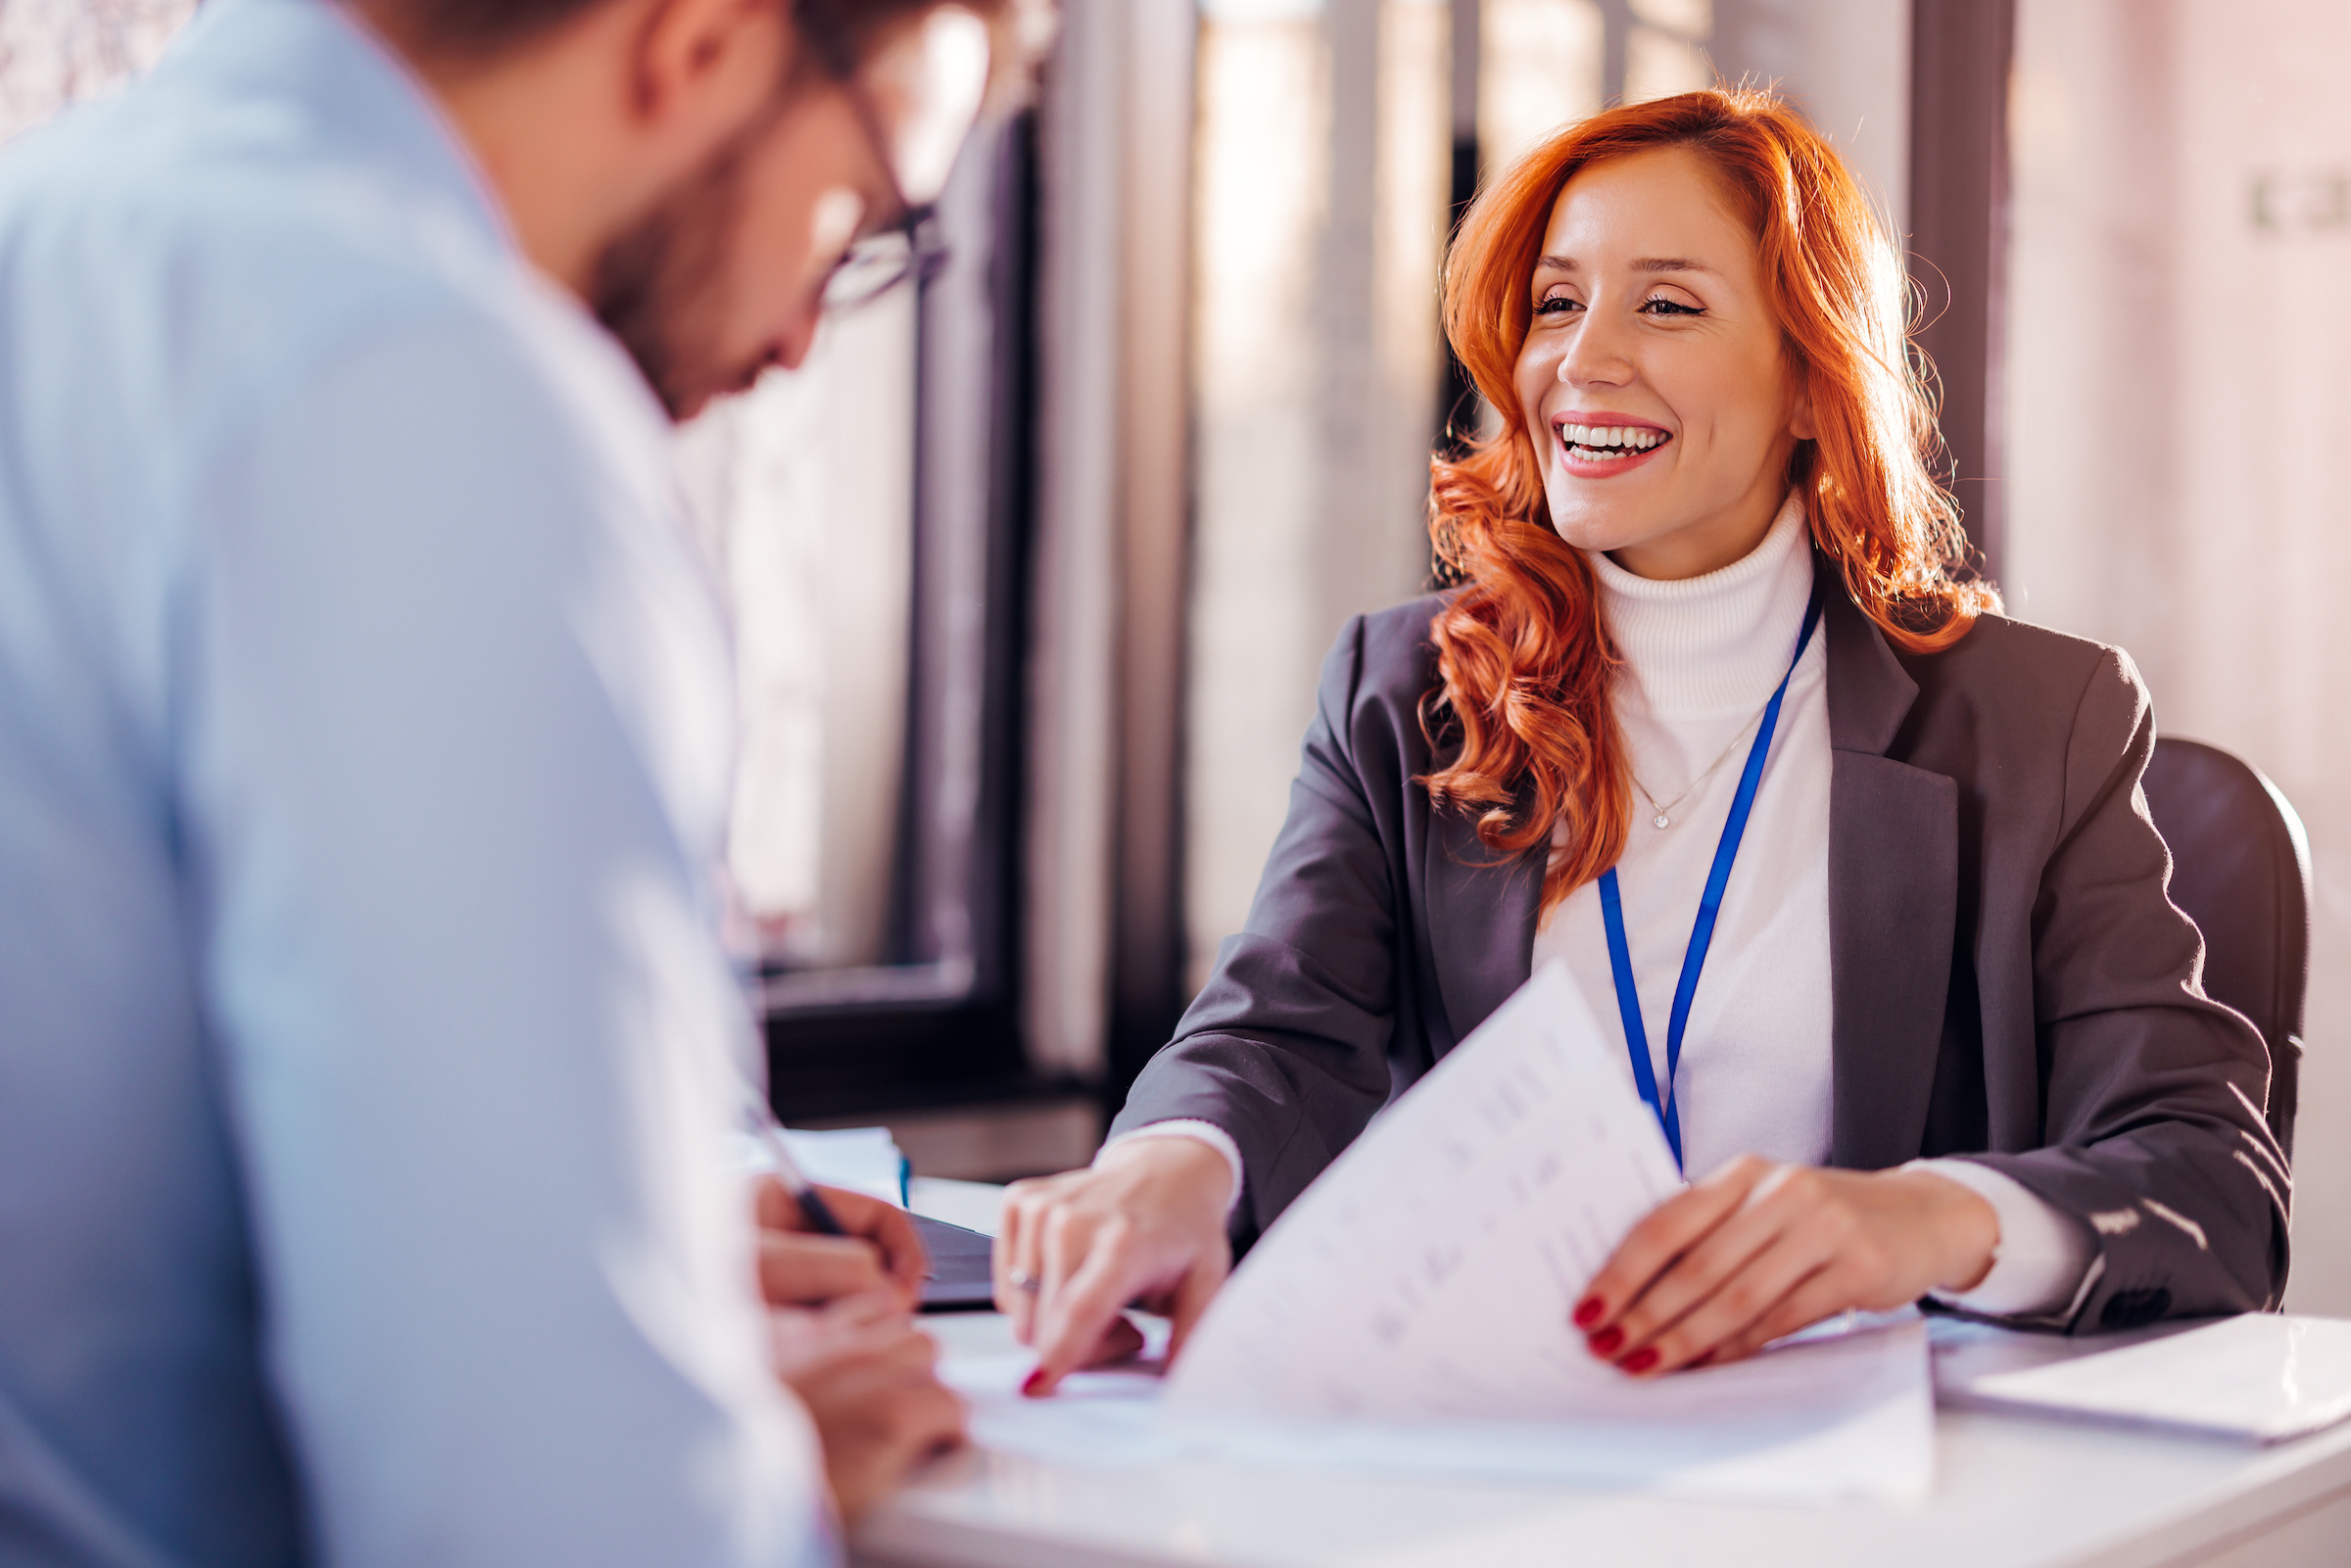
<path id="1" fill-rule="evenodd" d="M 745 127 L 698 172 L 611 240 L 590 270 L 588 308 L 637 362 L 672 421 L 750 386 L 759 364 L 719 364 L 726 254 L 745 169 L 769 120 Z"/>

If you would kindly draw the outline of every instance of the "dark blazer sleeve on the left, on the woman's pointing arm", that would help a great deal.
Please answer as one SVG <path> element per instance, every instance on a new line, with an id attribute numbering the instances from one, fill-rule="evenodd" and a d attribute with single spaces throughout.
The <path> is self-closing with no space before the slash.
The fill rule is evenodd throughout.
<path id="1" fill-rule="evenodd" d="M 1359 757 L 1399 769 L 1401 736 L 1359 703 L 1364 618 L 1324 661 L 1291 811 L 1239 936 L 1171 1044 L 1143 1067 L 1110 1135 L 1192 1119 L 1241 1152 L 1234 1234 L 1272 1225 L 1387 1103 L 1396 884 Z M 1389 832 L 1394 823 L 1385 825 Z"/>

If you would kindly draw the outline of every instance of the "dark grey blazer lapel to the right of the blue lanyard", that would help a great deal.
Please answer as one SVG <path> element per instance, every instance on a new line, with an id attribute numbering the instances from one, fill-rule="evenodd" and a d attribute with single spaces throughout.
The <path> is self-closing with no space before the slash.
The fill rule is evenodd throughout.
<path id="1" fill-rule="evenodd" d="M 1925 1138 L 1958 922 L 1958 783 L 1886 755 L 1918 684 L 1827 559 L 1831 1164 L 1874 1171 Z"/>

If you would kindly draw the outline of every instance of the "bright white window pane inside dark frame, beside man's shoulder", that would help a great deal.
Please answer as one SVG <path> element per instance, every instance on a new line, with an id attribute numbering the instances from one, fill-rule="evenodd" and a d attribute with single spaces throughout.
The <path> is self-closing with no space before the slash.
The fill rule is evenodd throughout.
<path id="1" fill-rule="evenodd" d="M 919 303 L 828 320 L 797 374 L 679 433 L 736 632 L 734 940 L 773 980 L 903 947 Z"/>

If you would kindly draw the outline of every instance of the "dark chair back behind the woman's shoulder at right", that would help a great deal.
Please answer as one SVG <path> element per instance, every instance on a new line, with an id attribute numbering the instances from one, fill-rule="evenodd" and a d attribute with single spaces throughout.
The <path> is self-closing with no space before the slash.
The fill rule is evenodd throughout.
<path id="1" fill-rule="evenodd" d="M 2252 764 L 2201 741 L 2158 738 L 2146 811 L 2172 849 L 2172 903 L 2205 936 L 2205 994 L 2269 1041 L 2269 1131 L 2295 1152 L 2302 994 L 2311 978 L 2311 844 Z"/>

